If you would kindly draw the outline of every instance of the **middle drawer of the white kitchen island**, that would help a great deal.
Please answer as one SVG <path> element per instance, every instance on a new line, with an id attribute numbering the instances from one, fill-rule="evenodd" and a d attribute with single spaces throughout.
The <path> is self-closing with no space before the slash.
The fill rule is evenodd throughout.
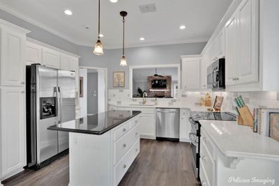
<path id="1" fill-rule="evenodd" d="M 119 162 L 121 157 L 140 139 L 139 125 L 133 127 L 127 134 L 114 143 L 114 164 Z"/>

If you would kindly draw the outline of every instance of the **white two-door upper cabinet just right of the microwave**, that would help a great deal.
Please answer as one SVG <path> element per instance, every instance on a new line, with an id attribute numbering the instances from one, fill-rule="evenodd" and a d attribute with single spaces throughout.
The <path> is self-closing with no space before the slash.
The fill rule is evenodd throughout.
<path id="1" fill-rule="evenodd" d="M 258 9 L 243 0 L 225 26 L 227 85 L 258 82 Z"/>

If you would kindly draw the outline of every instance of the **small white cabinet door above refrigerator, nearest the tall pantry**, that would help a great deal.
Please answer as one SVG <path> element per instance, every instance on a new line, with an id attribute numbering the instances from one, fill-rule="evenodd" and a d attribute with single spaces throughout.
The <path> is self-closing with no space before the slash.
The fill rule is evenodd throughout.
<path id="1" fill-rule="evenodd" d="M 33 42 L 27 41 L 26 46 L 26 65 L 42 63 L 42 50 L 43 47 L 36 45 Z"/>

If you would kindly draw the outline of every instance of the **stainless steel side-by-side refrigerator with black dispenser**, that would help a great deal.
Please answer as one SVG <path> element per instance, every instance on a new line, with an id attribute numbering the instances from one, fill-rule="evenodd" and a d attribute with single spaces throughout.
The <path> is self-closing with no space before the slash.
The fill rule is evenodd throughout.
<path id="1" fill-rule="evenodd" d="M 75 119 L 75 72 L 27 66 L 27 166 L 37 169 L 68 149 L 68 132 L 47 130 Z"/>

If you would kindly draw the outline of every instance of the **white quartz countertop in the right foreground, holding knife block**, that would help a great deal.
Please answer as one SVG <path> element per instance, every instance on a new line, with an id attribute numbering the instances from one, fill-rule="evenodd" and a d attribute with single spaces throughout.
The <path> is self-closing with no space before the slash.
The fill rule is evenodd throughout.
<path id="1" fill-rule="evenodd" d="M 235 121 L 199 121 L 219 150 L 228 157 L 279 161 L 279 141 L 264 137 Z"/>

